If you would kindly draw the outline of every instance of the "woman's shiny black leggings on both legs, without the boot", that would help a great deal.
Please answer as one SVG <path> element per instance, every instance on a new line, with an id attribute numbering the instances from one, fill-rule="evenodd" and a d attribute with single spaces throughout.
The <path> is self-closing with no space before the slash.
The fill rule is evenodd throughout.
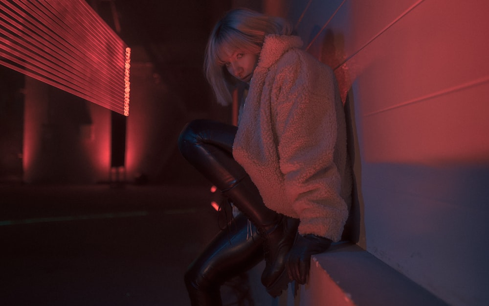
<path id="1" fill-rule="evenodd" d="M 187 124 L 178 139 L 180 152 L 217 188 L 228 190 L 247 177 L 232 156 L 237 128 L 210 120 Z M 192 306 L 221 306 L 223 282 L 247 271 L 263 259 L 263 238 L 238 215 L 218 233 L 185 273 Z"/>

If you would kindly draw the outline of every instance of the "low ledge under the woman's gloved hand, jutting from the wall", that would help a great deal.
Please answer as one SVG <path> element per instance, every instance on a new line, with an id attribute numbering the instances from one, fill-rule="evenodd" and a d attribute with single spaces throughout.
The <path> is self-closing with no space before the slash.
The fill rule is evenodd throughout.
<path id="1" fill-rule="evenodd" d="M 313 256 L 309 282 L 292 283 L 275 300 L 278 306 L 448 306 L 358 245 L 345 242 Z"/>

